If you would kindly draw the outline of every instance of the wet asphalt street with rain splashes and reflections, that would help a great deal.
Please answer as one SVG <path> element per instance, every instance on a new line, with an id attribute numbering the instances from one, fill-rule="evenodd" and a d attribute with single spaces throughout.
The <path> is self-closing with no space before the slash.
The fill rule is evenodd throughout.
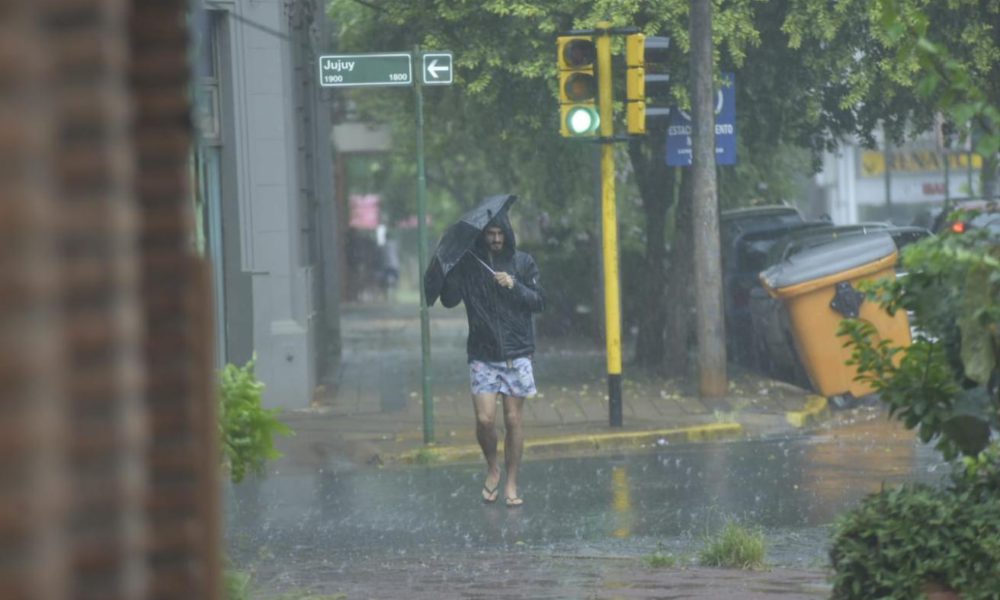
<path id="1" fill-rule="evenodd" d="M 528 461 L 518 509 L 478 500 L 478 466 L 276 473 L 229 491 L 227 542 L 233 562 L 274 592 L 712 598 L 731 594 L 735 577 L 741 598 L 816 598 L 839 513 L 883 483 L 946 470 L 878 418 L 796 439 Z M 762 529 L 777 570 L 675 568 L 664 579 L 645 563 L 658 552 L 693 567 L 728 519 Z"/>

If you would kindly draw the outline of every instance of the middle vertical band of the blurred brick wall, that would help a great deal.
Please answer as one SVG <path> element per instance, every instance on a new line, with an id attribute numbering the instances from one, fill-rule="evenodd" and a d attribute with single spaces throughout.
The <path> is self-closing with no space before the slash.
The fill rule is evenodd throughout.
<path id="1" fill-rule="evenodd" d="M 71 592 L 81 599 L 141 598 L 146 423 L 125 5 L 42 4 L 54 61 Z"/>

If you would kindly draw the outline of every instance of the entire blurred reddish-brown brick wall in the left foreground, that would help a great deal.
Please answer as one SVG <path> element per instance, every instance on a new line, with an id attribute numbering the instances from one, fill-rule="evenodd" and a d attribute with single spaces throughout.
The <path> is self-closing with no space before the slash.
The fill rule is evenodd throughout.
<path id="1" fill-rule="evenodd" d="M 216 598 L 187 3 L 0 2 L 0 598 Z"/>

